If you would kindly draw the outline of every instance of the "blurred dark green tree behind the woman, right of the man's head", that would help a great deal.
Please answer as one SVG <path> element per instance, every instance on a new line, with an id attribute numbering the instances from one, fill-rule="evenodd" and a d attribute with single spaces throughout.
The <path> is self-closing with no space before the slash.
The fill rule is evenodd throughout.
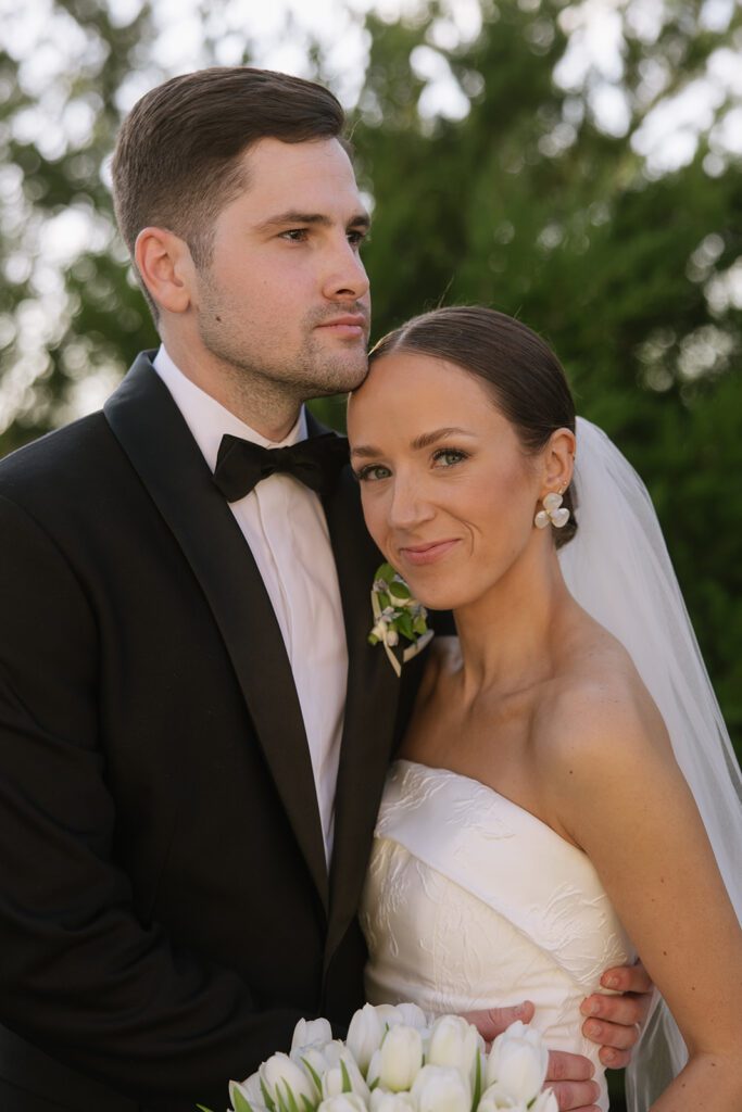
<path id="1" fill-rule="evenodd" d="M 355 141 L 379 214 L 366 254 L 375 332 L 441 302 L 479 302 L 554 346 L 580 411 L 647 481 L 739 754 L 740 159 L 720 152 L 711 121 L 672 172 L 647 163 L 636 137 L 659 99 L 693 82 L 698 92 L 720 57 L 739 54 L 742 11 L 711 33 L 698 4 L 667 4 L 642 41 L 626 6 L 612 87 L 625 120 L 613 135 L 596 111 L 600 76 L 555 80 L 570 11 L 483 3 L 475 41 L 437 46 L 471 101 L 455 121 L 417 110 L 415 63 L 441 6 L 423 24 L 369 21 Z M 718 111 L 731 113 L 724 98 Z"/>

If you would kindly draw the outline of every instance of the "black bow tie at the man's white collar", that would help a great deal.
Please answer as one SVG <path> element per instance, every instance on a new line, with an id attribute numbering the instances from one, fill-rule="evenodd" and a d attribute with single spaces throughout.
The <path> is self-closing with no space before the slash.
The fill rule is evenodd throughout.
<path id="1" fill-rule="evenodd" d="M 326 433 L 287 448 L 264 448 L 238 436 L 222 436 L 214 481 L 227 502 L 238 502 L 275 471 L 294 475 L 317 494 L 328 494 L 348 463 L 348 441 Z"/>

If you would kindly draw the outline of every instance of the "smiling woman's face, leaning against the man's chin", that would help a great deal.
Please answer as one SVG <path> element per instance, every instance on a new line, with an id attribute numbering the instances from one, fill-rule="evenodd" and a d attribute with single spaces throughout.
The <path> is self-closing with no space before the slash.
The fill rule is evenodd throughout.
<path id="1" fill-rule="evenodd" d="M 426 355 L 374 361 L 348 407 L 350 460 L 366 525 L 433 609 L 479 598 L 530 544 L 544 493 L 542 456 L 474 375 Z"/>

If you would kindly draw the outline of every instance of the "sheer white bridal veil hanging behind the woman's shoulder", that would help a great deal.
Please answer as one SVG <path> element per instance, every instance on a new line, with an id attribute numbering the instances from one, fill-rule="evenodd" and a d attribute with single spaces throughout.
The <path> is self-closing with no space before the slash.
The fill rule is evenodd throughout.
<path id="1" fill-rule="evenodd" d="M 564 578 L 629 651 L 660 708 L 742 920 L 742 777 L 660 524 L 644 484 L 605 434 L 577 418 L 576 435 L 580 527 L 560 550 Z M 657 1000 L 627 1071 L 630 1112 L 645 1112 L 685 1060 Z"/>

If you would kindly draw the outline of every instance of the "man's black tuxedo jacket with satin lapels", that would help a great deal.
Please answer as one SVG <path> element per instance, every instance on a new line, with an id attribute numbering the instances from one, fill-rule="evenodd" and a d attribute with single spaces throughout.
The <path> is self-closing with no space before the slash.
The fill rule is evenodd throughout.
<path id="1" fill-rule="evenodd" d="M 2 1112 L 218 1110 L 300 1015 L 362 1002 L 355 912 L 423 661 L 400 683 L 367 644 L 349 470 L 325 512 L 349 654 L 329 877 L 273 608 L 149 359 L 0 464 Z"/>

